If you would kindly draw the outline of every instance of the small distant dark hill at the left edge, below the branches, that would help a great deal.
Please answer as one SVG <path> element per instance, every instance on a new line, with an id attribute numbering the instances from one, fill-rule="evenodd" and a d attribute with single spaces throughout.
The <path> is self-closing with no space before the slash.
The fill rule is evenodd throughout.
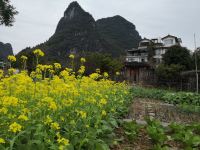
<path id="1" fill-rule="evenodd" d="M 12 45 L 0 42 L 0 61 L 7 61 L 8 55 L 13 55 Z"/>

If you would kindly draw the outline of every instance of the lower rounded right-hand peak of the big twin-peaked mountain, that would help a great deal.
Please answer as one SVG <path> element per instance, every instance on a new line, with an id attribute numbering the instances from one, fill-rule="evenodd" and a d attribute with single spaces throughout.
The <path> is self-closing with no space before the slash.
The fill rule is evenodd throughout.
<path id="1" fill-rule="evenodd" d="M 110 45 L 115 45 L 118 54 L 125 50 L 138 47 L 141 36 L 131 22 L 117 15 L 97 20 L 97 28 L 103 39 Z"/>

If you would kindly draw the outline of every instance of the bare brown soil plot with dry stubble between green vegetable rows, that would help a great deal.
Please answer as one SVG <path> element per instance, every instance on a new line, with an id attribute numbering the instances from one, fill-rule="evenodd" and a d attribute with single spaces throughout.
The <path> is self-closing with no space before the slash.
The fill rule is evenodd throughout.
<path id="1" fill-rule="evenodd" d="M 199 114 L 183 112 L 174 105 L 158 100 L 137 98 L 130 107 L 127 119 L 143 121 L 145 117 L 152 117 L 165 123 L 200 122 Z"/>

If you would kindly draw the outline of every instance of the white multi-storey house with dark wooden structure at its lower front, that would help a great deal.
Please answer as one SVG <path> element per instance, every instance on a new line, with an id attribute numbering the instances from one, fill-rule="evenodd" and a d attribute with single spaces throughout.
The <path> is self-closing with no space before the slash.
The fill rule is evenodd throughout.
<path id="1" fill-rule="evenodd" d="M 181 45 L 181 39 L 172 35 L 163 38 L 140 41 L 138 48 L 127 51 L 125 60 L 126 77 L 130 81 L 140 82 L 149 79 L 154 67 L 162 62 L 166 51 L 175 45 Z"/>

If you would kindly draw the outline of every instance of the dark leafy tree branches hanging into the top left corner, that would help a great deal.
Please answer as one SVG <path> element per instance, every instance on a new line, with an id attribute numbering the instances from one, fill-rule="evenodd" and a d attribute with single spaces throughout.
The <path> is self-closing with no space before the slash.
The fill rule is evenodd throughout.
<path id="1" fill-rule="evenodd" d="M 18 12 L 15 7 L 10 4 L 10 0 L 0 0 L 0 25 L 12 26 L 16 14 L 18 14 Z"/>

